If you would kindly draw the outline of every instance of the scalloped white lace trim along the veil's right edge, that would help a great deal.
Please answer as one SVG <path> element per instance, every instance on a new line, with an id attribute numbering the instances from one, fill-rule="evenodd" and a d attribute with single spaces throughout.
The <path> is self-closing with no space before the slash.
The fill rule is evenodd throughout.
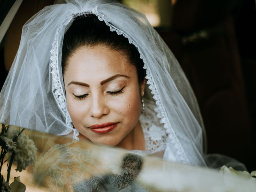
<path id="1" fill-rule="evenodd" d="M 125 34 L 124 32 L 122 32 L 121 30 L 119 30 L 118 28 L 116 28 L 115 26 L 113 26 L 112 24 L 108 23 L 106 20 L 104 20 L 104 15 L 103 14 L 100 14 L 98 11 L 97 11 L 97 7 L 95 7 L 93 10 L 92 10 L 92 13 L 94 13 L 98 19 L 100 21 L 104 21 L 106 23 L 107 26 L 110 27 L 110 31 L 115 31 L 118 35 L 123 35 L 124 37 L 128 38 L 129 40 L 129 43 L 132 43 L 134 46 L 136 46 L 136 44 L 134 43 L 134 41 L 132 41 L 131 38 L 129 38 L 129 36 L 127 34 Z M 180 144 L 180 141 L 178 140 L 178 138 L 176 137 L 176 134 L 174 133 L 171 125 L 170 125 L 170 121 L 169 119 L 167 118 L 167 114 L 166 114 L 166 111 L 164 110 L 164 107 L 163 107 L 163 104 L 162 104 L 162 101 L 160 99 L 160 96 L 158 94 L 158 90 L 156 88 L 156 85 L 155 85 L 155 82 L 154 82 L 154 79 L 152 78 L 152 75 L 151 75 L 151 72 L 150 72 L 150 69 L 148 68 L 147 66 L 147 62 L 146 62 L 146 59 L 144 58 L 144 56 L 141 54 L 141 51 L 140 51 L 140 48 L 138 48 L 138 46 L 136 46 L 136 48 L 138 49 L 139 53 L 140 53 L 140 58 L 143 60 L 144 62 L 144 66 L 143 68 L 146 69 L 146 79 L 148 80 L 147 81 L 147 84 L 149 84 L 149 89 L 151 90 L 151 93 L 154 95 L 153 98 L 154 100 L 156 100 L 156 109 L 155 111 L 157 112 L 157 117 L 160 118 L 160 123 L 163 123 L 164 124 L 164 128 L 166 128 L 166 133 L 168 134 L 168 137 L 170 138 L 172 144 L 174 144 L 174 148 L 176 149 L 176 155 L 179 157 L 179 161 L 184 163 L 184 164 L 190 164 L 181 144 Z"/>

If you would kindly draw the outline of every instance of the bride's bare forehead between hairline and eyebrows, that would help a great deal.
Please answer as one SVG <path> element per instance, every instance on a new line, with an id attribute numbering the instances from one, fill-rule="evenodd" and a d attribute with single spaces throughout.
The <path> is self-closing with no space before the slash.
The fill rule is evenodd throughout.
<path id="1" fill-rule="evenodd" d="M 122 51 L 102 45 L 78 48 L 67 63 L 64 78 L 101 80 L 115 74 L 136 76 L 136 68 L 128 62 Z"/>

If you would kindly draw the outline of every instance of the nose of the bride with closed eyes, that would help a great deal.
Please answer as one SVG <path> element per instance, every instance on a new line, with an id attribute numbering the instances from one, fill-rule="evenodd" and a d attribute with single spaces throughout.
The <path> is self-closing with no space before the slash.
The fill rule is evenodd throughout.
<path id="1" fill-rule="evenodd" d="M 109 113 L 109 108 L 104 101 L 104 98 L 101 98 L 100 96 L 92 96 L 90 99 L 91 104 L 89 115 L 91 117 L 101 118 Z"/>

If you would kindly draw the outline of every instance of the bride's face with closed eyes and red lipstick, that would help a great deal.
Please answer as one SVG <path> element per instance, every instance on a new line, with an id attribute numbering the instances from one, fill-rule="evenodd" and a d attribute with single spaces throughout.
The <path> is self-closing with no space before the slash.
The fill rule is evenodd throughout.
<path id="1" fill-rule="evenodd" d="M 139 125 L 145 82 L 122 52 L 81 47 L 64 72 L 66 100 L 74 127 L 97 144 L 116 146 Z"/>

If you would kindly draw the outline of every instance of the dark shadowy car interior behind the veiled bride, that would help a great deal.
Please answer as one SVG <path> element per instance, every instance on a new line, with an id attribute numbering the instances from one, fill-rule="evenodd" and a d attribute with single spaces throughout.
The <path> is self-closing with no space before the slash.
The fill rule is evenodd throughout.
<path id="1" fill-rule="evenodd" d="M 0 1 L 0 22 L 13 3 Z M 22 25 L 53 3 L 23 0 L 0 44 L 0 88 L 18 49 Z M 256 170 L 255 1 L 176 0 L 160 3 L 160 12 L 166 7 L 170 22 L 156 30 L 194 89 L 206 127 L 208 153 L 231 156 L 249 171 Z"/>

